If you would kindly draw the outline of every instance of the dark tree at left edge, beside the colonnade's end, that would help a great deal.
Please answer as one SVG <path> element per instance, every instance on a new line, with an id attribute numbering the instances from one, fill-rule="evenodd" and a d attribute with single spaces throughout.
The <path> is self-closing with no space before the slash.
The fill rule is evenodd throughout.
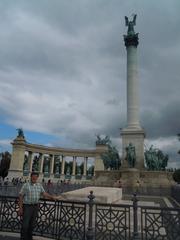
<path id="1" fill-rule="evenodd" d="M 3 179 L 7 177 L 8 170 L 11 162 L 11 154 L 6 151 L 1 153 L 1 161 L 0 161 L 0 177 Z"/>

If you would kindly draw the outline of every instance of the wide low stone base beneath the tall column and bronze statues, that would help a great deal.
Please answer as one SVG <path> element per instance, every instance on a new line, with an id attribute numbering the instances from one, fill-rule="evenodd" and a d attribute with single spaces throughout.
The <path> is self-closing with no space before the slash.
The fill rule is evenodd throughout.
<path id="1" fill-rule="evenodd" d="M 138 192 L 145 195 L 170 195 L 175 184 L 172 173 L 126 168 L 114 171 L 97 171 L 95 186 L 122 187 L 123 193 Z"/>

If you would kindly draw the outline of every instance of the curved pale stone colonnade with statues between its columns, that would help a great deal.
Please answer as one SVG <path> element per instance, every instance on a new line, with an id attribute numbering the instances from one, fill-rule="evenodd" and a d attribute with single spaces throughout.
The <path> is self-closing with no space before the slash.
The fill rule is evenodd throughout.
<path id="1" fill-rule="evenodd" d="M 94 174 L 98 170 L 104 170 L 101 154 L 107 151 L 107 146 L 103 144 L 96 144 L 95 149 L 48 147 L 28 143 L 24 136 L 17 136 L 12 146 L 10 178 L 27 177 L 32 171 L 37 171 L 40 178 L 65 179 L 69 173 L 69 179 L 75 179 L 78 175 L 77 160 L 81 158 L 83 165 L 79 175 L 85 180 L 88 161 L 94 160 Z M 68 170 L 65 169 L 66 157 L 72 159 L 71 169 L 67 168 Z"/>

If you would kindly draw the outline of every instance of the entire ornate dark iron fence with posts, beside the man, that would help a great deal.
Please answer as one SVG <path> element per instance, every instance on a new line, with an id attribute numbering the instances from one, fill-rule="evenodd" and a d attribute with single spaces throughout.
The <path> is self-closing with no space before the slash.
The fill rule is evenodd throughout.
<path id="1" fill-rule="evenodd" d="M 59 240 L 180 240 L 180 208 L 40 200 L 34 235 Z M 0 197 L 0 231 L 20 232 L 18 199 Z"/>

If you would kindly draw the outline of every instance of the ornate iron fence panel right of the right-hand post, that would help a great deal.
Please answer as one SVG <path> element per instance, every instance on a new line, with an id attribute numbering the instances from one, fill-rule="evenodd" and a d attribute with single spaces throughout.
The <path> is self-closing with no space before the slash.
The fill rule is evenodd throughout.
<path id="1" fill-rule="evenodd" d="M 142 239 L 180 240 L 180 209 L 141 207 Z"/>

